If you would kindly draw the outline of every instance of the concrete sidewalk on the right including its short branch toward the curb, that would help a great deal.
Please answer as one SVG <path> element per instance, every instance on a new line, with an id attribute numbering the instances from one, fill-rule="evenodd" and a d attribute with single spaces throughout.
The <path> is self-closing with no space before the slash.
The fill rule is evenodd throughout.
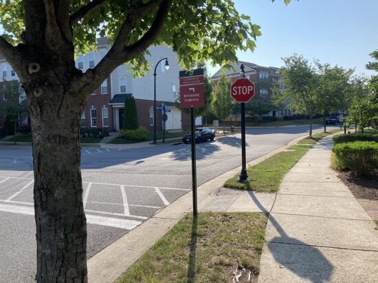
<path id="1" fill-rule="evenodd" d="M 378 282 L 378 231 L 329 168 L 331 137 L 285 175 L 278 194 L 221 188 L 206 210 L 270 212 L 258 282 Z"/>

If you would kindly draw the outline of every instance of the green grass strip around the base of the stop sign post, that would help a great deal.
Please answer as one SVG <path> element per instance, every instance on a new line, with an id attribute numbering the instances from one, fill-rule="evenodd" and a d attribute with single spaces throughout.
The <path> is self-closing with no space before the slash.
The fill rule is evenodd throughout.
<path id="1" fill-rule="evenodd" d="M 290 151 L 278 152 L 255 166 L 249 166 L 249 182 L 239 183 L 236 175 L 228 179 L 223 186 L 255 192 L 277 192 L 282 178 L 309 148 L 311 146 L 291 146 Z"/>

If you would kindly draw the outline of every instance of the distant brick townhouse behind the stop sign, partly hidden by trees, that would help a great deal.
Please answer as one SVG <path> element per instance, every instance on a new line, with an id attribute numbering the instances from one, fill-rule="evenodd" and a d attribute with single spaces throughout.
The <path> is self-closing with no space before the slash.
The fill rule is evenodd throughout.
<path id="1" fill-rule="evenodd" d="M 244 65 L 245 78 L 248 78 L 249 80 L 254 82 L 255 85 L 254 98 L 252 98 L 252 100 L 250 100 L 248 103 L 253 103 L 254 100 L 261 98 L 269 99 L 272 94 L 271 88 L 276 82 L 278 82 L 279 87 L 282 88 L 282 84 L 279 84 L 280 75 L 278 75 L 277 73 L 277 67 L 263 67 L 254 63 L 243 61 L 232 63 L 231 65 L 232 67 L 234 67 L 234 69 L 227 69 L 225 71 L 226 76 L 230 78 L 232 82 L 234 82 L 238 78 L 241 78 L 241 64 Z M 222 71 L 216 71 L 216 73 L 214 73 L 214 75 L 210 78 L 212 84 L 215 85 L 221 76 Z M 285 107 L 284 105 L 282 106 L 282 109 L 272 109 L 271 111 L 269 111 L 269 113 L 266 113 L 263 116 L 282 117 L 289 115 L 293 115 L 293 111 L 287 109 L 287 107 Z"/>

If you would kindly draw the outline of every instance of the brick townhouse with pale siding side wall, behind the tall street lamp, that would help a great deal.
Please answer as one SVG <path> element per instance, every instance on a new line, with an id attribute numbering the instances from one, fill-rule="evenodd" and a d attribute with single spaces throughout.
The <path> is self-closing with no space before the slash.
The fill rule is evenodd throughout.
<path id="1" fill-rule="evenodd" d="M 107 38 L 98 38 L 97 49 L 87 54 L 78 54 L 76 67 L 82 71 L 95 67 L 107 54 L 111 45 Z M 179 90 L 179 63 L 175 52 L 166 46 L 155 46 L 148 49 L 151 56 L 146 56 L 150 64 L 150 71 L 142 78 L 133 78 L 130 66 L 120 65 L 104 80 L 100 87 L 94 91 L 81 116 L 80 124 L 87 128 L 106 128 L 110 132 L 120 131 L 124 117 L 124 100 L 126 95 L 133 95 L 137 105 L 137 114 L 140 126 L 153 131 L 153 104 L 154 104 L 154 76 L 155 64 L 161 58 L 168 58 L 169 69 L 165 68 L 163 60 L 157 66 L 156 100 L 157 106 L 165 104 L 168 120 L 167 130 L 181 130 L 190 125 L 190 119 L 174 106 Z M 18 80 L 12 67 L 0 57 L 0 70 L 3 70 L 3 80 Z M 0 100 L 1 103 L 1 100 Z M 157 131 L 162 130 L 162 111 L 157 110 Z M 1 120 L 1 117 L 0 117 Z M 0 122 L 1 123 L 1 122 Z M 1 124 L 0 124 L 1 125 Z"/>

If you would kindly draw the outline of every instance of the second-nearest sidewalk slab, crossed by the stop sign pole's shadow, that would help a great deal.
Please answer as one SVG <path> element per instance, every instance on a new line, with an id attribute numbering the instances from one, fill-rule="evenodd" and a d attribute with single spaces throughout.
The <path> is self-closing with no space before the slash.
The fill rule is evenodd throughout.
<path id="1" fill-rule="evenodd" d="M 293 245 L 299 241 L 311 246 L 378 251 L 378 230 L 373 224 L 372 220 L 272 213 L 269 215 L 265 240 Z"/>

